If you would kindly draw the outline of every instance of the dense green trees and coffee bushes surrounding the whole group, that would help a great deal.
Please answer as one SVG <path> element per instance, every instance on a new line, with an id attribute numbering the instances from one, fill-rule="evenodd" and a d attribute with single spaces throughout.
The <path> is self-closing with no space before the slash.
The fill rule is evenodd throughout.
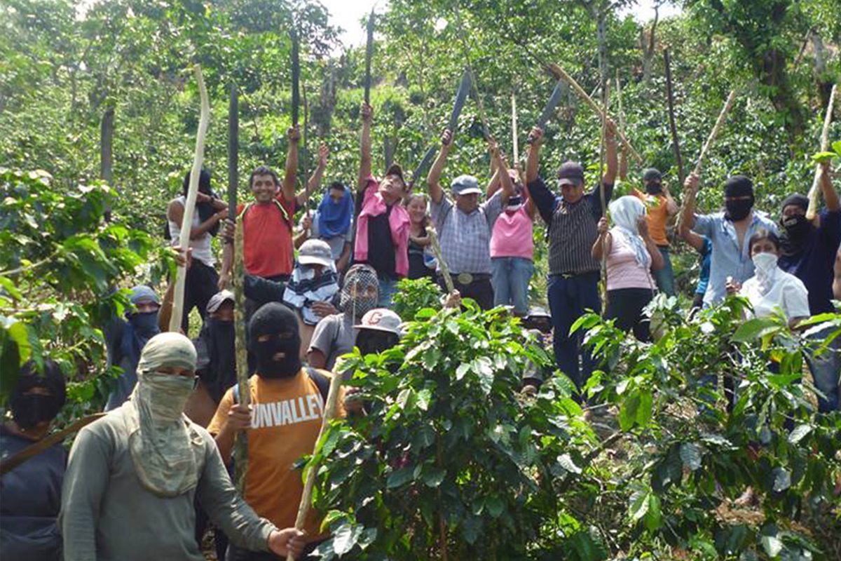
<path id="1" fill-rule="evenodd" d="M 489 130 L 508 153 L 516 94 L 522 149 L 552 92 L 543 67 L 552 61 L 588 92 L 610 78 L 617 120 L 618 79 L 627 137 L 680 198 L 668 49 L 684 173 L 727 93 L 738 90 L 705 167 L 701 208 L 721 204 L 719 186 L 733 172 L 754 178 L 759 208 L 774 216 L 785 195 L 805 193 L 829 88 L 841 75 L 838 0 L 683 0 L 680 16 L 644 24 L 623 11 L 632 5 L 391 0 L 376 23 L 375 172 L 386 161 L 411 170 L 435 145 L 466 63 Z M 303 40 L 309 105 L 301 175 L 323 140 L 331 147 L 325 179 L 352 183 L 364 50 L 337 45 L 320 3 L 0 3 L 3 392 L 18 363 L 53 357 L 72 382 L 66 417 L 101 409 L 114 376 L 101 328 L 125 304 L 114 289 L 159 284 L 172 266 L 161 232 L 167 201 L 192 163 L 192 64 L 202 65 L 209 88 L 205 164 L 221 192 L 231 83 L 241 92 L 241 175 L 258 163 L 283 167 L 293 28 Z M 547 127 L 544 168 L 575 158 L 595 178 L 599 126 L 566 95 Z M 445 181 L 461 172 L 488 178 L 481 128 L 479 104 L 470 101 Z M 830 138 L 841 138 L 838 122 Z M 641 171 L 632 163 L 618 190 Z M 537 228 L 538 271 L 542 234 Z M 694 288 L 696 261 L 679 247 L 684 294 Z M 540 277 L 536 299 L 544 298 Z M 437 307 L 430 287 L 407 284 L 402 294 L 404 316 Z M 662 336 L 652 345 L 599 318 L 582 320 L 611 367 L 590 383 L 600 403 L 616 408 L 616 420 L 602 426 L 583 421 L 565 378 L 535 398 L 517 393 L 521 369 L 549 358 L 498 312 L 423 310 L 399 348 L 354 357 L 352 384 L 371 409 L 325 436 L 318 504 L 337 530 L 326 548 L 366 558 L 839 558 L 841 426 L 837 417 L 816 419 L 811 389 L 796 384 L 805 343 L 782 325 L 739 325 L 738 299 L 691 319 L 676 307 L 681 301 L 659 303 Z M 837 315 L 824 320 L 841 325 Z M 781 365 L 775 375 L 765 372 L 769 356 Z M 713 405 L 721 394 L 696 382 L 701 373 L 731 372 L 744 383 L 728 412 Z M 759 505 L 734 508 L 748 485 Z"/>

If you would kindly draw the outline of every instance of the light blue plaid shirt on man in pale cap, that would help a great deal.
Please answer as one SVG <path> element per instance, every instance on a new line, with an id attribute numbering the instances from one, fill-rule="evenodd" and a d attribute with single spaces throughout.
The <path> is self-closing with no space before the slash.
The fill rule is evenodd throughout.
<path id="1" fill-rule="evenodd" d="M 459 210 L 446 195 L 440 203 L 431 201 L 432 220 L 450 273 L 490 273 L 490 233 L 501 212 L 501 192 L 470 214 Z"/>

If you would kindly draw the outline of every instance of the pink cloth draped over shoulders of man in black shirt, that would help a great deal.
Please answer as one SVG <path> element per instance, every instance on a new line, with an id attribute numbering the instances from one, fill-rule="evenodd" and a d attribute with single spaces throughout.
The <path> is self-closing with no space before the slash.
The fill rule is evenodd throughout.
<path id="1" fill-rule="evenodd" d="M 378 193 L 379 183 L 368 177 L 365 196 L 362 198 L 362 211 L 357 219 L 357 241 L 354 258 L 358 262 L 368 261 L 368 219 L 386 212 L 389 207 Z M 389 214 L 391 241 L 394 242 L 394 268 L 400 277 L 409 274 L 409 213 L 401 204 L 394 204 Z"/>

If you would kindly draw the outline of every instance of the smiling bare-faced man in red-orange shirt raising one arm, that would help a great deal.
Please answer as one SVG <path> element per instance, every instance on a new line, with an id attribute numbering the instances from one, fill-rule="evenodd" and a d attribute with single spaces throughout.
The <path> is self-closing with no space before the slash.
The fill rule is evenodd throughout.
<path id="1" fill-rule="evenodd" d="M 289 149 L 286 156 L 286 170 L 283 183 L 267 166 L 257 167 L 251 172 L 248 183 L 254 201 L 240 204 L 237 217 L 242 222 L 243 263 L 246 273 L 273 281 L 286 281 L 292 274 L 294 249 L 294 214 L 303 197 L 295 195 L 295 181 L 298 170 L 298 143 L 301 133 L 298 126 L 287 131 Z M 226 288 L 233 264 L 233 229 L 226 231 L 225 248 L 222 255 L 220 289 Z"/>

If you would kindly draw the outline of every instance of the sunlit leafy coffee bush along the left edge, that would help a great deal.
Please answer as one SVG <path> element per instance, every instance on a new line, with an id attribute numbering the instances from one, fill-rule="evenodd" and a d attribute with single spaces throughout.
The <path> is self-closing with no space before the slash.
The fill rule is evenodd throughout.
<path id="1" fill-rule="evenodd" d="M 96 410 L 108 392 L 104 325 L 127 304 L 117 284 L 151 257 L 142 230 L 108 224 L 102 184 L 62 188 L 50 174 L 0 168 L 0 364 L 3 401 L 20 364 L 50 357 L 71 378 L 67 415 Z M 113 373 L 111 373 L 113 375 Z"/>

